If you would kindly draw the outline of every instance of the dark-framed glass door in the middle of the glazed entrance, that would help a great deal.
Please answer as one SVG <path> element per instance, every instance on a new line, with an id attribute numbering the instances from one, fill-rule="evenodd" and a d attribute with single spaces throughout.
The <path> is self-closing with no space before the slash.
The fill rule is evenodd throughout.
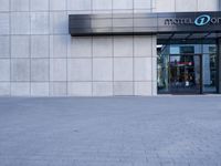
<path id="1" fill-rule="evenodd" d="M 201 55 L 170 54 L 169 89 L 173 94 L 200 94 Z"/>

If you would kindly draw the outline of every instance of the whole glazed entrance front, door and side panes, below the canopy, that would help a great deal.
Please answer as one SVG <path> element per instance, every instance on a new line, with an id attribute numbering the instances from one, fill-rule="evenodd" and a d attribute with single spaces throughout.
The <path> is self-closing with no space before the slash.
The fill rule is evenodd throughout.
<path id="1" fill-rule="evenodd" d="M 201 93 L 217 93 L 217 44 L 165 44 L 157 51 L 158 93 L 172 93 L 172 84 L 177 92 L 189 93 L 193 85 L 198 89 L 197 82 Z"/>

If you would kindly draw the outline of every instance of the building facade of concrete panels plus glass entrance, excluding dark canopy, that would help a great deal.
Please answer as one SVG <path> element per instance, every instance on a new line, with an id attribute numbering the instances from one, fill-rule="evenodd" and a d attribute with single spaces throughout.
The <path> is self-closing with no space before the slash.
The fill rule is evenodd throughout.
<path id="1" fill-rule="evenodd" d="M 77 37 L 69 30 L 69 15 L 214 12 L 220 10 L 219 0 L 0 0 L 0 4 L 1 96 L 220 93 L 217 31 Z"/>

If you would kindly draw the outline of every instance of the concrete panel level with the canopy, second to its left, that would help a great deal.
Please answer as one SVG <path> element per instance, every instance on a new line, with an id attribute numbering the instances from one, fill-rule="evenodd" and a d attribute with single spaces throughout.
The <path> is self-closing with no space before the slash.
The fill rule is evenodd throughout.
<path id="1" fill-rule="evenodd" d="M 31 34 L 49 34 L 49 12 L 31 13 Z"/>

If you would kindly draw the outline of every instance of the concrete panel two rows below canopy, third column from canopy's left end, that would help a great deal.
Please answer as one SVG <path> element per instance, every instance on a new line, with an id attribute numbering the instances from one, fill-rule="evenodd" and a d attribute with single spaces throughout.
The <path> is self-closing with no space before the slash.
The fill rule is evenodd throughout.
<path id="1" fill-rule="evenodd" d="M 133 81 L 133 59 L 114 59 L 114 81 Z"/>

